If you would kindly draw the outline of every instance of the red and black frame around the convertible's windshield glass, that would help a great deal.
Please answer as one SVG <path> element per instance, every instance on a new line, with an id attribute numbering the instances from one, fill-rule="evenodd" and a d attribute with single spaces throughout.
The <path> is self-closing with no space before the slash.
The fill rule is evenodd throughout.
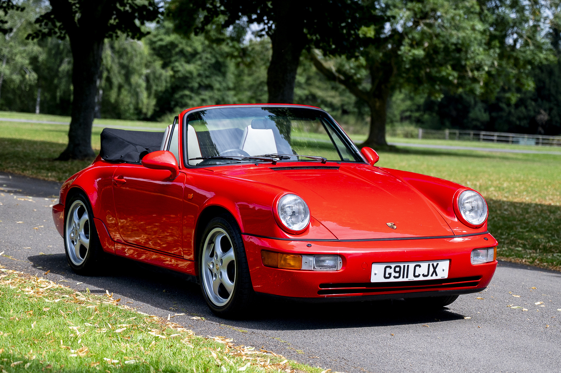
<path id="1" fill-rule="evenodd" d="M 343 141 L 343 143 L 353 152 L 353 154 L 359 159 L 359 161 L 343 161 L 343 160 L 336 160 L 336 161 L 328 161 L 328 162 L 338 162 L 339 164 L 341 163 L 358 163 L 358 164 L 366 164 L 366 160 L 364 158 L 364 156 L 362 156 L 362 153 L 360 152 L 360 150 L 358 150 L 356 144 L 351 140 L 350 137 L 348 137 L 347 133 L 344 132 L 344 130 L 339 126 L 339 124 L 337 123 L 337 121 L 333 118 L 333 116 L 331 116 L 327 111 L 320 109 L 320 108 L 315 108 L 314 106 L 307 106 L 307 105 L 297 105 L 297 104 L 240 104 L 240 105 L 213 105 L 213 106 L 202 106 L 199 108 L 195 108 L 192 110 L 187 110 L 185 112 L 185 114 L 182 115 L 181 117 L 181 132 L 182 132 L 182 136 L 181 136 L 181 155 L 183 158 L 183 162 L 182 162 L 182 166 L 183 168 L 186 169 L 200 169 L 200 168 L 206 168 L 206 167 L 215 167 L 215 166 L 233 166 L 233 165 L 247 165 L 247 164 L 255 164 L 257 162 L 264 162 L 264 161 L 259 161 L 259 160 L 240 160 L 240 162 L 232 162 L 232 163 L 220 163 L 220 164 L 214 164 L 214 165 L 190 165 L 188 164 L 188 155 L 187 155 L 187 124 L 188 124 L 188 119 L 187 117 L 190 114 L 196 113 L 197 111 L 203 111 L 203 110 L 210 110 L 210 109 L 220 109 L 220 108 L 279 108 L 279 107 L 289 107 L 289 108 L 300 108 L 300 109 L 309 109 L 309 110 L 314 110 L 314 111 L 320 111 L 323 115 L 325 115 L 325 117 L 328 119 L 329 122 L 331 122 L 330 124 L 332 124 L 332 128 L 334 130 L 334 132 L 336 132 L 339 137 L 341 137 L 341 140 Z M 329 135 L 330 136 L 330 135 Z M 331 137 L 331 136 L 330 136 Z M 333 139 L 331 139 L 333 142 Z M 334 143 L 334 142 L 333 142 Z M 335 147 L 337 148 L 337 147 Z M 277 160 L 277 162 L 314 162 L 317 163 L 318 161 L 316 160 L 304 160 L 304 159 L 299 159 L 298 161 L 295 160 Z"/>

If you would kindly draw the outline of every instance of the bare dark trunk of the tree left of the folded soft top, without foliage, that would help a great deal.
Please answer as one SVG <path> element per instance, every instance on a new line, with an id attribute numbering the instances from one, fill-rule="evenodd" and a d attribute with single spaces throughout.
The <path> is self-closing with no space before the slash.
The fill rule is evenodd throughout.
<path id="1" fill-rule="evenodd" d="M 84 35 L 70 39 L 72 47 L 72 120 L 68 146 L 57 160 L 95 157 L 91 148 L 91 125 L 94 122 L 97 80 L 102 64 L 102 40 L 88 40 Z"/>

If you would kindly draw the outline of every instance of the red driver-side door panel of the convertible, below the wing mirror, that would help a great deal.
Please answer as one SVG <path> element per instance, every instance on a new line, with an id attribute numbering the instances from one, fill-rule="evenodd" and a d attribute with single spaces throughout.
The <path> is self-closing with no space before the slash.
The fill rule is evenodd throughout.
<path id="1" fill-rule="evenodd" d="M 128 244 L 182 256 L 185 174 L 123 164 L 113 174 L 119 234 Z"/>

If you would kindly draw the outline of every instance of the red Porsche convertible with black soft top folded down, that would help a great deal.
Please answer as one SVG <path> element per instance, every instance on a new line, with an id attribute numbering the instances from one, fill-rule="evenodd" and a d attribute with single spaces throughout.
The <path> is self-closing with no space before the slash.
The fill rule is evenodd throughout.
<path id="1" fill-rule="evenodd" d="M 73 271 L 107 254 L 195 276 L 217 315 L 256 295 L 442 307 L 496 268 L 485 199 L 375 166 L 324 110 L 185 110 L 164 132 L 104 129 L 53 218 Z"/>

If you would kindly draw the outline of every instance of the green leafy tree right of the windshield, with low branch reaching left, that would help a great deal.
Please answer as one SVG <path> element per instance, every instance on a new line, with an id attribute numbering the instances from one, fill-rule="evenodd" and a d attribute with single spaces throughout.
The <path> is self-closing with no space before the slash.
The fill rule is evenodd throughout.
<path id="1" fill-rule="evenodd" d="M 371 12 L 389 20 L 362 27 L 358 57 L 311 54 L 314 65 L 370 108 L 363 146 L 385 147 L 388 100 L 408 89 L 432 97 L 444 90 L 493 97 L 505 81 L 532 86 L 528 72 L 545 58 L 533 2 L 388 0 Z"/>

